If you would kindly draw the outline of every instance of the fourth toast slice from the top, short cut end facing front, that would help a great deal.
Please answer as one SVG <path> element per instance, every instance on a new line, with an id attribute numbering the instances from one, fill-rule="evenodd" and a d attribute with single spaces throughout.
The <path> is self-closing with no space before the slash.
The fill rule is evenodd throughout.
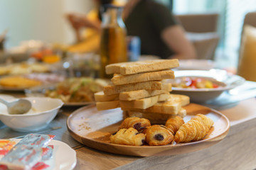
<path id="1" fill-rule="evenodd" d="M 156 96 L 164 94 L 166 91 L 171 91 L 171 84 L 163 84 L 162 90 L 138 90 L 138 91 L 127 91 L 119 94 L 120 101 L 134 101 L 139 98 L 146 98 L 150 96 Z"/>

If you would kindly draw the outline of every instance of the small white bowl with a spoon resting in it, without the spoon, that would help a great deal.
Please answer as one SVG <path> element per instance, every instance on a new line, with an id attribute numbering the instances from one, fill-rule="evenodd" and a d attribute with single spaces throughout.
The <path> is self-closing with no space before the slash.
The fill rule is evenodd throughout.
<path id="1" fill-rule="evenodd" d="M 0 120 L 18 132 L 38 131 L 46 128 L 63 106 L 63 101 L 57 98 L 27 97 L 26 99 L 31 101 L 32 108 L 23 115 L 10 115 L 6 106 L 0 103 Z"/>

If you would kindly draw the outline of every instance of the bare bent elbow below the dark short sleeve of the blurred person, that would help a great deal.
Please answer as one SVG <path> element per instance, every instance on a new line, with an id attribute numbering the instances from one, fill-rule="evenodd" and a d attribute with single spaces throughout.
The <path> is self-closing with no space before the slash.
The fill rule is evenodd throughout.
<path id="1" fill-rule="evenodd" d="M 169 26 L 161 32 L 161 38 L 166 42 L 176 55 L 171 58 L 195 59 L 196 50 L 191 42 L 188 41 L 181 26 Z"/>

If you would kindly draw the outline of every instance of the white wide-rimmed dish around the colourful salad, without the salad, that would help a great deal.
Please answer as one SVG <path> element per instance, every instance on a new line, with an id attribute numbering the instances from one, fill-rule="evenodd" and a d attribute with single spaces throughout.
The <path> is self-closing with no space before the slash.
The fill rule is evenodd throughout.
<path id="1" fill-rule="evenodd" d="M 188 89 L 173 87 L 173 94 L 184 94 L 191 98 L 192 102 L 205 102 L 211 99 L 217 98 L 224 91 L 228 91 L 237 86 L 245 83 L 245 79 L 238 75 L 230 75 L 225 70 L 221 69 L 210 69 L 205 70 L 177 70 L 174 72 L 175 79 L 168 80 L 173 83 L 182 77 L 192 77 L 192 78 L 203 78 L 213 81 L 214 83 L 220 85 L 218 88 L 213 89 Z"/>

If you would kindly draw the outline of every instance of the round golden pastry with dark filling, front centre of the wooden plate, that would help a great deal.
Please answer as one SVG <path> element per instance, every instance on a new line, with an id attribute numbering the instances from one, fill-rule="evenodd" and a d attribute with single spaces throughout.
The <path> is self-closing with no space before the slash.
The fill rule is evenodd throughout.
<path id="1" fill-rule="evenodd" d="M 150 146 L 167 145 L 174 140 L 174 135 L 164 125 L 152 125 L 143 131 Z"/>

